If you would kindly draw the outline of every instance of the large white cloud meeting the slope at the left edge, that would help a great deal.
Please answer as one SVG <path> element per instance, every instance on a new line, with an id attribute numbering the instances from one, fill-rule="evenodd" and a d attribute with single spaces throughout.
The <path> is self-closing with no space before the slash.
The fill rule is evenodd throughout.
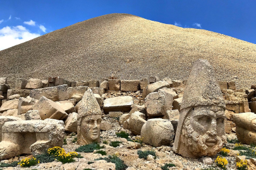
<path id="1" fill-rule="evenodd" d="M 32 40 L 40 35 L 31 33 L 24 26 L 6 26 L 0 29 L 0 50 L 13 47 L 28 40 Z"/>

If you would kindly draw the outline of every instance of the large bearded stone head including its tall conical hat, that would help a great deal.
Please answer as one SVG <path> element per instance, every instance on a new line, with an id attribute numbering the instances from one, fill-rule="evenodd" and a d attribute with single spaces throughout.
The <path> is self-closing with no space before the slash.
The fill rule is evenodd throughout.
<path id="1" fill-rule="evenodd" d="M 214 156 L 226 142 L 225 103 L 207 60 L 195 61 L 181 103 L 174 152 L 185 157 Z"/>

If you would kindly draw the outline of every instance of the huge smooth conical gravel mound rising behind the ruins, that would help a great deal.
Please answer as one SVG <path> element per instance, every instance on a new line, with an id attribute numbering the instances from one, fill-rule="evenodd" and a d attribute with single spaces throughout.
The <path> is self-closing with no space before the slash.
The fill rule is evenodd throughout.
<path id="1" fill-rule="evenodd" d="M 107 14 L 0 51 L 0 77 L 61 76 L 70 81 L 158 76 L 187 79 L 207 59 L 219 81 L 256 83 L 256 45 L 212 31 L 180 28 L 131 14 Z M 129 62 L 127 62 L 129 60 Z"/>

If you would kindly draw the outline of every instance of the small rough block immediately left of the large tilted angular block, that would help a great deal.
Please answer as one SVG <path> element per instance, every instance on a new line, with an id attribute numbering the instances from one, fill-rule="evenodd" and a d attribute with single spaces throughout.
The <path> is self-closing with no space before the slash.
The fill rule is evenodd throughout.
<path id="1" fill-rule="evenodd" d="M 20 98 L 18 102 L 18 115 L 27 113 L 28 110 L 33 110 L 34 105 L 34 98 L 30 98 L 30 96 L 27 96 L 27 98 Z"/>

